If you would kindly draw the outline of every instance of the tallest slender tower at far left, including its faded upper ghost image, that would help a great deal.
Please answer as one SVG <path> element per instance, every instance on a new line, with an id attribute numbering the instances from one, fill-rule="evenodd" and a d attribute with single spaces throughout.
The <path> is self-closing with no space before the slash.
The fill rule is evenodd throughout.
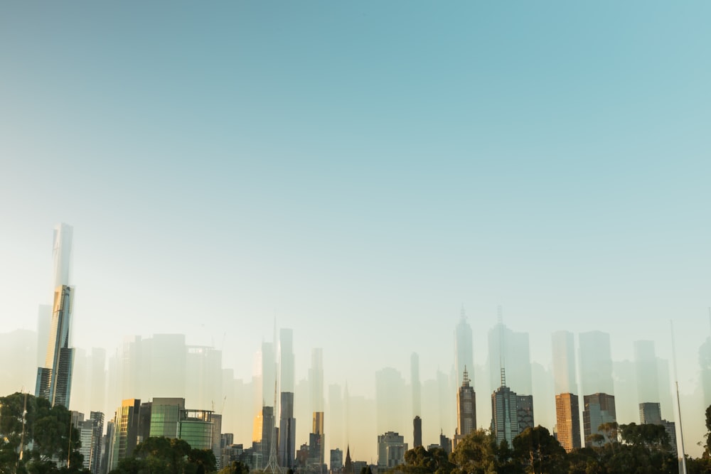
<path id="1" fill-rule="evenodd" d="M 72 227 L 60 224 L 54 230 L 54 302 L 49 321 L 45 367 L 38 367 L 35 396 L 69 407 L 72 390 L 74 349 L 69 347 L 74 289 L 69 286 Z"/>

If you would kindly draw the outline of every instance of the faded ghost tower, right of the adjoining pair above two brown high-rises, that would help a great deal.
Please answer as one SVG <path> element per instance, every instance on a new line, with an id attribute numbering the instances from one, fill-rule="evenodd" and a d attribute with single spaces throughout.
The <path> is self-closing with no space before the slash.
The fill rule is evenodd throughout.
<path id="1" fill-rule="evenodd" d="M 582 394 L 614 393 L 610 335 L 590 331 L 579 335 L 579 363 Z"/>

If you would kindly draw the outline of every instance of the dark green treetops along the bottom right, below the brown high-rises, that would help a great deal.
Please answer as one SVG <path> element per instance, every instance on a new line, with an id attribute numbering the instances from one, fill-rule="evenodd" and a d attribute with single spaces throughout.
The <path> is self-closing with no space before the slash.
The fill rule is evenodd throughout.
<path id="1" fill-rule="evenodd" d="M 711 407 L 707 410 L 711 441 Z M 593 448 L 566 453 L 542 426 L 527 428 L 513 439 L 496 443 L 488 431 L 474 431 L 445 457 L 441 448 L 422 446 L 407 451 L 405 465 L 395 472 L 407 474 L 665 474 L 678 473 L 679 463 L 663 426 L 608 424 Z M 606 443 L 602 441 L 606 440 Z M 709 441 L 707 441 L 708 446 Z M 711 473 L 707 448 L 700 459 L 688 459 L 688 473 Z"/>

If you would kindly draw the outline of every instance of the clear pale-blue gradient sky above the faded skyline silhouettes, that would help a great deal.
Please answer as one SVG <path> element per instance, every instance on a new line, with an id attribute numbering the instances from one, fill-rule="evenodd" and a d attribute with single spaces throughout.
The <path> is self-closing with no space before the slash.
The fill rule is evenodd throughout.
<path id="1" fill-rule="evenodd" d="M 372 394 L 449 372 L 464 306 L 651 339 L 696 389 L 711 334 L 711 4 L 214 1 L 0 6 L 0 330 L 49 303 L 74 227 L 73 343 L 187 333 L 250 377 Z M 353 383 L 355 382 L 355 383 Z"/>

